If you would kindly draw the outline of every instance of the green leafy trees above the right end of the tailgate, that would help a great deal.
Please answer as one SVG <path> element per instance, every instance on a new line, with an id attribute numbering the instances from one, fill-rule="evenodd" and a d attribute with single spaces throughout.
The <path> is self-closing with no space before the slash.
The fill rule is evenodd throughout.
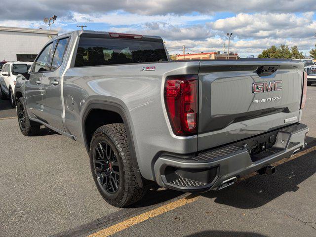
<path id="1" fill-rule="evenodd" d="M 303 52 L 299 52 L 297 46 L 288 47 L 288 45 L 281 44 L 279 47 L 272 45 L 258 55 L 258 58 L 304 58 Z"/>

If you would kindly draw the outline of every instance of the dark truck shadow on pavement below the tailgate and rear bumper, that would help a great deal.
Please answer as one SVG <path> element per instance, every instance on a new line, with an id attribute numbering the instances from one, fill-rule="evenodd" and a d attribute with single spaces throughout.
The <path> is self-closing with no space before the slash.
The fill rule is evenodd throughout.
<path id="1" fill-rule="evenodd" d="M 286 192 L 296 192 L 298 185 L 316 173 L 316 151 L 276 166 L 272 176 L 256 175 L 221 191 L 202 194 L 216 203 L 241 209 L 267 204 Z"/>

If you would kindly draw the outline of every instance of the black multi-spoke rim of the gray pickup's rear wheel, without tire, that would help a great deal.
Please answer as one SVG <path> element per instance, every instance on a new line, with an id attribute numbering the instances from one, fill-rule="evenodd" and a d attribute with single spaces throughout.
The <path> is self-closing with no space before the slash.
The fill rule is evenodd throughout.
<path id="1" fill-rule="evenodd" d="M 105 141 L 99 142 L 95 149 L 93 163 L 100 188 L 108 194 L 115 194 L 120 185 L 121 174 L 112 145 Z"/>

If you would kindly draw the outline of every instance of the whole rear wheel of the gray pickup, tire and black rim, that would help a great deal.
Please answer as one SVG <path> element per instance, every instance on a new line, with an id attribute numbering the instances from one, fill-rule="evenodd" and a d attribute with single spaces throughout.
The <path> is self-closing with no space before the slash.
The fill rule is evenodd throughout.
<path id="1" fill-rule="evenodd" d="M 93 134 L 89 156 L 94 182 L 109 204 L 124 207 L 143 197 L 145 191 L 136 181 L 124 124 L 99 127 Z"/>

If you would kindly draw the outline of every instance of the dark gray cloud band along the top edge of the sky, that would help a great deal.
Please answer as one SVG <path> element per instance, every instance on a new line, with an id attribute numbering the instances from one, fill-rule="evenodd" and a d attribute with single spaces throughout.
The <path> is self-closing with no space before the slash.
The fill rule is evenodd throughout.
<path id="1" fill-rule="evenodd" d="M 139 15 L 190 14 L 199 12 L 307 12 L 315 11 L 315 0 L 23 0 L 23 7 L 16 1 L 1 0 L 1 19 L 36 20 L 52 14 L 72 17 L 80 14 L 104 14 L 123 10 Z M 14 14 L 12 10 L 14 9 Z"/>

